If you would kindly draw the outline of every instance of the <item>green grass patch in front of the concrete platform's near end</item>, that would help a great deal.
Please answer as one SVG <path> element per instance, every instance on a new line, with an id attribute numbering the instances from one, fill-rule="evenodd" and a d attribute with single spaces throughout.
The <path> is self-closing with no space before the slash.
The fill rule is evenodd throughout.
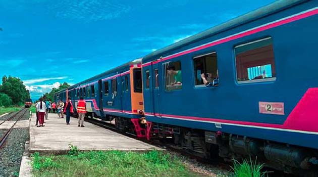
<path id="1" fill-rule="evenodd" d="M 34 177 L 202 176 L 188 170 L 178 157 L 161 151 L 89 151 L 60 156 L 39 156 L 35 153 L 32 166 Z"/>

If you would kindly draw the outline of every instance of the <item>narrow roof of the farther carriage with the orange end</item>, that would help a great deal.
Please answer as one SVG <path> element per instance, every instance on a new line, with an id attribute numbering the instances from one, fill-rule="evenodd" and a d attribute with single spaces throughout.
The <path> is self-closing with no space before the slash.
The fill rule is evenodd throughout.
<path id="1" fill-rule="evenodd" d="M 81 84 L 83 84 L 83 83 L 86 83 L 86 82 L 89 82 L 89 81 L 92 81 L 92 80 L 99 79 L 99 78 L 101 78 L 101 77 L 104 76 L 104 75 L 108 75 L 108 74 L 114 73 L 114 72 L 116 72 L 116 71 L 118 71 L 118 70 L 124 69 L 124 68 L 126 68 L 126 67 L 130 67 L 130 65 L 140 64 L 140 63 L 141 63 L 141 60 L 142 60 L 142 58 L 138 58 L 138 59 L 135 59 L 135 60 L 133 60 L 133 61 L 127 62 L 127 63 L 122 64 L 122 65 L 120 65 L 120 66 L 118 66 L 118 67 L 116 67 L 116 68 L 110 69 L 110 70 L 108 70 L 108 71 L 105 71 L 105 72 L 100 73 L 100 74 L 98 74 L 98 75 L 95 75 L 95 76 L 93 76 L 93 77 L 90 77 L 90 78 L 88 78 L 88 79 L 86 79 L 86 80 L 83 80 L 83 81 L 81 81 L 81 82 L 79 82 L 79 83 L 76 83 L 76 84 L 74 84 L 74 85 L 71 85 L 71 86 L 69 86 L 67 89 L 71 89 L 71 88 L 73 88 L 73 87 L 75 87 L 75 86 L 77 86 L 77 85 L 81 85 Z M 64 92 L 65 90 L 66 90 L 66 89 L 63 89 L 63 90 L 61 90 L 61 91 L 59 91 L 59 92 L 57 92 L 57 93 L 55 93 L 55 94 Z"/>

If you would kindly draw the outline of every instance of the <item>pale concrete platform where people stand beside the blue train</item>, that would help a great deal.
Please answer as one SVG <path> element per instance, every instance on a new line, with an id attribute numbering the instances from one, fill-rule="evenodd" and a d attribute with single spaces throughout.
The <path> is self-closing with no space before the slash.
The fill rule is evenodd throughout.
<path id="1" fill-rule="evenodd" d="M 68 152 L 69 144 L 77 146 L 79 150 L 145 151 L 160 149 L 89 122 L 84 122 L 85 127 L 78 127 L 77 119 L 72 117 L 70 125 L 66 125 L 65 117 L 58 118 L 57 114 L 49 114 L 44 127 L 36 127 L 35 120 L 35 116 L 32 116 L 30 153 L 63 154 Z"/>

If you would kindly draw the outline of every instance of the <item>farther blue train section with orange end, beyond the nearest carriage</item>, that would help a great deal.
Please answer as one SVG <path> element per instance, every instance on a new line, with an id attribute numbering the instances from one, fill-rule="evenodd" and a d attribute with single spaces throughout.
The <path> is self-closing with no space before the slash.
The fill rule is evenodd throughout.
<path id="1" fill-rule="evenodd" d="M 118 129 L 145 137 L 141 59 L 136 59 L 56 93 L 56 101 L 69 97 L 75 108 L 80 97 L 86 101 L 87 116 L 115 119 Z"/>

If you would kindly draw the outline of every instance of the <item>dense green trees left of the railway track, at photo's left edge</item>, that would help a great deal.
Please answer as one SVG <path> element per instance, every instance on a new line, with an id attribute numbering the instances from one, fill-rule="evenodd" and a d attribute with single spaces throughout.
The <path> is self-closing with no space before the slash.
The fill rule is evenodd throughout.
<path id="1" fill-rule="evenodd" d="M 23 81 L 19 77 L 3 76 L 0 85 L 0 106 L 22 106 L 26 100 L 30 100 L 30 93 Z"/>

